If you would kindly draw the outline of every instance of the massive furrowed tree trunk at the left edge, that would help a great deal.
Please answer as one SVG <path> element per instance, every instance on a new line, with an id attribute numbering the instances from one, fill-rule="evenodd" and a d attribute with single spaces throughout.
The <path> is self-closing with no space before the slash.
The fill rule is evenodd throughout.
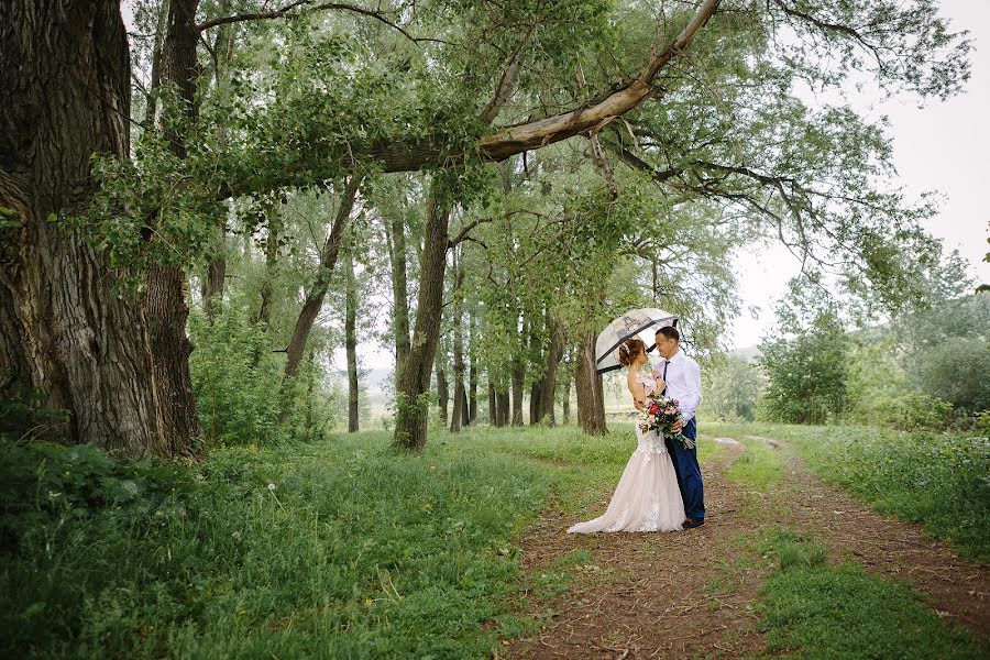
<path id="1" fill-rule="evenodd" d="M 119 3 L 0 2 L 0 371 L 66 410 L 70 441 L 166 454 L 144 304 L 111 295 L 106 253 L 47 219 L 89 204 L 91 154 L 129 157 Z"/>

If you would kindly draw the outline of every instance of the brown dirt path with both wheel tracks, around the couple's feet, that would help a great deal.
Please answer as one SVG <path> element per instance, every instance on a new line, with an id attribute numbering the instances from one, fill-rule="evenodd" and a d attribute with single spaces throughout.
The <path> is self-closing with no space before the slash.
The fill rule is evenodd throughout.
<path id="1" fill-rule="evenodd" d="M 768 444 L 787 449 L 779 441 Z M 707 522 L 697 529 L 578 536 L 564 534 L 574 520 L 561 512 L 544 515 L 522 541 L 527 575 L 560 571 L 575 551 L 591 551 L 594 563 L 579 565 L 578 573 L 587 580 L 565 592 L 530 595 L 535 610 L 549 616 L 543 615 L 539 635 L 513 641 L 502 657 L 736 658 L 759 652 L 763 641 L 751 604 L 765 572 L 757 562 L 737 561 L 740 543 L 758 527 L 810 532 L 828 544 L 833 557 L 910 581 L 941 616 L 977 635 L 990 630 L 986 566 L 925 539 L 915 525 L 856 503 L 794 459 L 770 494 L 747 492 L 724 476 L 744 451 L 726 444 L 718 458 L 702 465 Z M 604 510 L 609 496 L 603 494 L 588 515 Z M 767 515 L 756 517 L 754 509 Z"/>

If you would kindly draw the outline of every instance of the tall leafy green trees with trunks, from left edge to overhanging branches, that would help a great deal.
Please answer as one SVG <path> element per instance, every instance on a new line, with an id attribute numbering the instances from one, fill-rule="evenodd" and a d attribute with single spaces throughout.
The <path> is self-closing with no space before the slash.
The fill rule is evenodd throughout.
<path id="1" fill-rule="evenodd" d="M 419 449 L 435 367 L 452 421 L 479 365 L 519 421 L 527 388 L 530 416 L 552 414 L 569 351 L 579 419 L 602 430 L 594 332 L 657 300 L 714 345 L 740 242 L 828 254 L 883 308 L 924 297 L 936 265 L 901 258 L 933 209 L 878 187 L 880 127 L 793 87 L 955 94 L 970 44 L 927 2 L 131 9 L 129 34 L 114 0 L 0 7 L 2 386 L 66 410 L 76 442 L 200 451 L 190 302 L 255 338 L 245 370 L 282 360 L 258 395 L 280 426 L 321 388 L 302 376 L 334 282 L 353 353 L 360 277 L 387 263 L 395 438 Z"/>

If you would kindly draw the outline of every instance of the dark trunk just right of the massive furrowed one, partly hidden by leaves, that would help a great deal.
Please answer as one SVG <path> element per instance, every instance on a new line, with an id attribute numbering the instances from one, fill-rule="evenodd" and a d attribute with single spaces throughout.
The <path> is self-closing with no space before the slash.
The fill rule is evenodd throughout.
<path id="1" fill-rule="evenodd" d="M 196 8 L 199 0 L 170 0 L 162 50 L 162 85 L 176 86 L 185 118 L 196 121 Z M 165 132 L 172 152 L 186 157 L 185 135 Z M 152 239 L 155 240 L 155 239 Z M 189 308 L 186 297 L 189 282 L 179 266 L 152 264 L 147 272 L 147 314 L 154 360 L 158 404 L 162 406 L 162 439 L 175 453 L 202 435 L 193 394 L 189 354 L 193 344 L 186 336 Z"/>

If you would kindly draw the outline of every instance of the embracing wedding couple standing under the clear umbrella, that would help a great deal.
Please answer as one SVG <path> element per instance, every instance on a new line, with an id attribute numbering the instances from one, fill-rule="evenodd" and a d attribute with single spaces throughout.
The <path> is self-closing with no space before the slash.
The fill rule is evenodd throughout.
<path id="1" fill-rule="evenodd" d="M 641 410 L 651 394 L 666 395 L 680 404 L 681 419 L 674 431 L 695 440 L 694 411 L 701 403 L 701 367 L 680 349 L 680 333 L 671 327 L 657 331 L 657 350 L 663 358 L 649 364 L 642 340 L 628 339 L 619 346 L 619 363 L 627 367 L 626 382 L 634 405 Z M 661 438 L 656 430 L 636 425 L 638 446 L 619 479 L 605 513 L 568 532 L 674 531 L 705 524 L 704 490 L 697 449 L 680 440 Z M 693 444 L 693 443 L 692 443 Z"/>

